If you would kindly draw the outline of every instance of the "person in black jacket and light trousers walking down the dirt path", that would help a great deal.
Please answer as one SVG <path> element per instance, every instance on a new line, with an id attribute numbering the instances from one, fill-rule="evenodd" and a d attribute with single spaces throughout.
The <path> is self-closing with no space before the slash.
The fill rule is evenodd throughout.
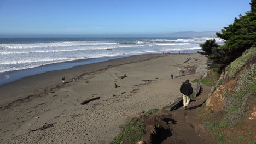
<path id="1" fill-rule="evenodd" d="M 186 82 L 182 83 L 181 88 L 179 88 L 179 91 L 183 95 L 183 107 L 185 110 L 188 110 L 190 95 L 193 93 L 193 88 L 191 86 L 191 83 L 189 83 L 189 80 L 186 80 Z"/>

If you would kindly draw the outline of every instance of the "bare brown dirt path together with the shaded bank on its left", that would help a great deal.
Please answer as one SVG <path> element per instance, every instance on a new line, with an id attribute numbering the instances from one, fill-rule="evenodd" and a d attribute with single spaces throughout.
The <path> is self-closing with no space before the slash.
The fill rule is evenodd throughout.
<path id="1" fill-rule="evenodd" d="M 173 111 L 160 111 L 145 119 L 146 134 L 141 143 L 217 143 L 197 117 L 197 110 L 210 91 L 211 87 L 202 85 L 201 94 L 191 100 L 188 110 L 182 106 Z"/>

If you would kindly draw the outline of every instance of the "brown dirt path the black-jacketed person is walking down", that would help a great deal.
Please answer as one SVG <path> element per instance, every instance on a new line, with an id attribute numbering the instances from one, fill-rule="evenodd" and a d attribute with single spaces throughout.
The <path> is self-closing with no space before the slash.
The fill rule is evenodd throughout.
<path id="1" fill-rule="evenodd" d="M 197 110 L 207 99 L 210 91 L 211 87 L 202 85 L 201 94 L 191 100 L 188 110 L 184 110 L 182 106 L 171 111 L 171 118 L 173 119 L 171 134 L 161 143 L 217 143 L 206 133 L 199 117 L 197 117 Z"/>

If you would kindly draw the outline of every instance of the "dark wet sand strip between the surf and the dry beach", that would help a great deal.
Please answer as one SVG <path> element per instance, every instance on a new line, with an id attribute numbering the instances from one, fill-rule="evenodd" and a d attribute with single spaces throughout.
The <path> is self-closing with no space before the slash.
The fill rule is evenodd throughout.
<path id="1" fill-rule="evenodd" d="M 176 54 L 168 54 L 168 55 L 176 55 Z M 2 93 L 1 94 L 2 97 L 0 97 L 0 106 L 3 106 L 4 104 L 10 103 L 11 101 L 15 101 L 17 99 L 26 98 L 28 95 L 31 95 L 31 94 L 42 93 L 44 92 L 42 91 L 42 89 L 47 89 L 49 87 L 55 87 L 56 85 L 62 84 L 61 79 L 63 76 L 66 77 L 66 81 L 69 81 L 74 77 L 78 77 L 85 73 L 93 73 L 94 71 L 97 71 L 100 69 L 106 69 L 109 67 L 126 64 L 126 61 L 128 63 L 141 62 L 141 61 L 147 61 L 149 59 L 157 58 L 160 56 L 164 56 L 164 55 L 162 54 L 133 55 L 133 56 L 127 56 L 122 58 L 109 59 L 108 61 L 103 61 L 98 63 L 89 63 L 84 65 L 74 66 L 72 68 L 46 71 L 45 73 L 25 76 L 16 81 L 0 85 L 0 91 Z M 112 62 L 114 64 L 112 64 Z M 49 77 L 50 79 L 48 79 Z M 15 89 L 16 92 L 10 95 L 9 92 L 12 92 L 13 89 Z M 3 95 L 8 95 L 8 96 L 3 97 Z M 19 97 L 15 97 L 14 95 L 19 95 Z M 9 98 L 10 100 L 6 100 L 5 98 Z"/>

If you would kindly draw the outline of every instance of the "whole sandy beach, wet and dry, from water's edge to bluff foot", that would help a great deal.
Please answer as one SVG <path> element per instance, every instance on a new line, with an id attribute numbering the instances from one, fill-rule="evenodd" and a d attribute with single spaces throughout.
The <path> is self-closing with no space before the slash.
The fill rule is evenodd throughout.
<path id="1" fill-rule="evenodd" d="M 0 139 L 3 143 L 106 143 L 127 119 L 161 109 L 182 96 L 182 82 L 202 75 L 181 76 L 178 67 L 195 70 L 205 63 L 206 57 L 197 53 L 136 55 L 8 83 L 0 87 Z M 181 77 L 171 79 L 171 74 Z M 80 104 L 96 97 L 101 98 Z M 45 123 L 53 125 L 39 130 Z"/>

